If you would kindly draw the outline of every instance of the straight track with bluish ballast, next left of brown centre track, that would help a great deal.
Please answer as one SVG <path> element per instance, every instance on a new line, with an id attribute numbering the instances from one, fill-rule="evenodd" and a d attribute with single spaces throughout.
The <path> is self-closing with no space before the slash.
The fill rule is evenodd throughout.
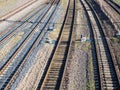
<path id="1" fill-rule="evenodd" d="M 24 53 L 21 53 L 23 56 L 20 58 L 16 58 L 17 54 L 20 54 L 21 49 L 26 44 L 25 41 L 26 40 L 28 41 L 29 38 L 26 38 L 24 40 L 22 45 L 20 45 L 20 47 L 15 51 L 15 53 L 8 59 L 8 61 L 1 68 L 1 70 L 0 70 L 0 88 L 1 89 L 8 90 L 11 87 L 12 83 L 14 83 L 15 79 L 17 78 L 20 71 L 22 70 L 28 57 L 31 55 L 33 49 L 39 44 L 41 39 L 44 37 L 45 33 L 47 32 L 47 29 L 46 30 L 44 30 L 44 29 L 48 25 L 48 22 L 50 21 L 50 18 L 52 17 L 52 15 L 55 12 L 56 7 L 57 7 L 57 5 L 52 7 L 53 4 L 55 4 L 54 1 L 52 1 L 52 3 L 50 3 L 50 4 L 48 4 L 48 10 L 46 11 L 46 13 L 43 14 L 42 19 L 44 19 L 44 17 L 46 17 L 46 14 L 48 11 L 50 12 L 50 10 L 52 10 L 52 12 L 46 19 L 45 25 L 41 25 L 41 30 L 39 32 L 37 32 L 37 34 L 34 36 L 35 38 L 32 39 L 34 41 L 30 42 L 31 45 L 29 46 L 29 48 L 27 50 L 25 49 Z M 32 28 L 32 31 L 28 35 L 28 37 L 31 37 L 32 34 L 34 34 L 35 29 L 38 27 L 38 25 L 40 24 L 42 19 L 40 19 L 40 18 L 38 19 L 38 23 L 34 26 L 34 28 Z M 26 48 L 26 47 L 24 47 L 24 48 Z"/>

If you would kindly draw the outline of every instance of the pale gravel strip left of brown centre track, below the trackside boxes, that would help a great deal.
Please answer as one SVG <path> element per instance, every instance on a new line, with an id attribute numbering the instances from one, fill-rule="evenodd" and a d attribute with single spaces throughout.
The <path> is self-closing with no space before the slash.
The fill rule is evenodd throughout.
<path id="1" fill-rule="evenodd" d="M 56 20 L 54 20 L 53 23 L 54 22 L 56 22 Z M 57 32 L 59 32 L 60 28 L 58 29 L 58 26 L 56 26 L 56 28 Z M 36 30 L 36 32 L 38 32 L 38 30 Z M 55 34 L 58 36 L 58 33 Z M 55 40 L 57 39 L 57 36 Z M 32 52 L 31 57 L 25 64 L 22 72 L 20 72 L 20 75 L 16 79 L 15 83 L 12 85 L 11 90 L 36 90 L 54 46 L 54 44 L 44 42 L 40 45 L 42 46 L 36 47 L 34 52 Z"/>

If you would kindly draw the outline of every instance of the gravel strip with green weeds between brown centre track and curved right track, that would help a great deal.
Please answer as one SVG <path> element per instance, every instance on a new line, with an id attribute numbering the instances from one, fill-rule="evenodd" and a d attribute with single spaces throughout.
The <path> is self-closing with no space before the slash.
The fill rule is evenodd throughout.
<path id="1" fill-rule="evenodd" d="M 71 63 L 72 70 L 74 74 L 70 73 L 71 77 L 69 80 L 70 89 L 81 89 L 81 90 L 94 90 L 94 71 L 93 71 L 93 61 L 92 61 L 92 52 L 91 52 L 91 42 L 81 42 L 81 35 L 90 39 L 89 28 L 87 25 L 87 19 L 84 13 L 84 10 L 79 5 L 77 0 L 77 19 L 76 19 L 76 40 L 75 40 L 75 51 L 73 52 L 72 63 L 77 65 L 74 66 Z M 76 52 L 76 53 L 75 53 Z M 75 53 L 75 55 L 74 55 Z M 76 58 L 75 58 L 76 57 Z M 74 59 L 75 58 L 75 59 Z M 80 66 L 80 68 L 79 68 Z M 76 69 L 75 69 L 76 68 Z M 79 68 L 79 71 L 77 69 Z M 82 69 L 81 69 L 82 68 Z M 76 72 L 77 71 L 77 72 Z M 81 73 L 81 74 L 77 74 Z M 77 78 L 78 77 L 78 78 Z M 78 81 L 78 82 L 77 82 Z"/>

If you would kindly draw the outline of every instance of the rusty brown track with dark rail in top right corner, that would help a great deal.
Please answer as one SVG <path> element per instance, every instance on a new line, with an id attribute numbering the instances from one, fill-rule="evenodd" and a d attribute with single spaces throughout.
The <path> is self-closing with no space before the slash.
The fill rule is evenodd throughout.
<path id="1" fill-rule="evenodd" d="M 109 17 L 116 29 L 116 35 L 120 35 L 120 6 L 112 0 L 104 0 L 101 9 Z"/>

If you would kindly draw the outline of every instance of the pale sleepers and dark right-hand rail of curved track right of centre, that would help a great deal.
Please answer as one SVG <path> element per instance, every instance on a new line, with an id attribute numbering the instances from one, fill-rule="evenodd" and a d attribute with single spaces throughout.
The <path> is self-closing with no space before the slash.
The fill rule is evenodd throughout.
<path id="1" fill-rule="evenodd" d="M 119 88 L 118 77 L 115 71 L 110 49 L 108 47 L 102 26 L 90 2 L 86 1 L 84 3 L 86 3 L 91 10 L 91 13 L 88 11 L 87 12 L 90 18 L 90 22 L 92 25 L 91 26 L 92 32 L 95 38 L 94 40 L 95 40 L 95 47 L 96 47 L 98 67 L 99 67 L 98 70 L 100 75 L 100 80 L 99 80 L 100 88 L 102 90 L 118 89 Z"/>

